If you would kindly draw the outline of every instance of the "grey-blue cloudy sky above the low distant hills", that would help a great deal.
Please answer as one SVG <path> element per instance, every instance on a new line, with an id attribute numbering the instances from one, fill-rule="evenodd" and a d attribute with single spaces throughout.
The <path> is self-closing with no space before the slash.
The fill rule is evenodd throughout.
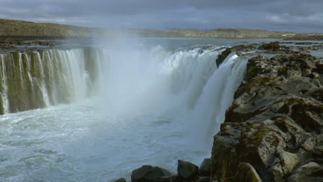
<path id="1" fill-rule="evenodd" d="M 0 0 L 0 19 L 89 27 L 323 32 L 323 0 Z"/>

